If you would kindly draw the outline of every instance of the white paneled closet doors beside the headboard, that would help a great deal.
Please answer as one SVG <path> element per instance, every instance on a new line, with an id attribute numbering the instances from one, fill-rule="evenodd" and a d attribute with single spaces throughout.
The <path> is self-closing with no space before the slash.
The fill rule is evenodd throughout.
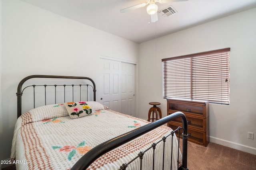
<path id="1" fill-rule="evenodd" d="M 101 65 L 100 102 L 135 116 L 135 64 L 101 59 Z"/>

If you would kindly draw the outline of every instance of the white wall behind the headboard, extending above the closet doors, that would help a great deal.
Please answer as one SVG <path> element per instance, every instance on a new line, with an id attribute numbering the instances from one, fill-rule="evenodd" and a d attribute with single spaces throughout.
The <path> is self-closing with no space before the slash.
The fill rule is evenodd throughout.
<path id="1" fill-rule="evenodd" d="M 22 78 L 32 74 L 88 76 L 99 89 L 100 56 L 138 61 L 137 43 L 19 0 L 3 0 L 1 28 L 1 160 L 10 157 L 16 90 Z"/>

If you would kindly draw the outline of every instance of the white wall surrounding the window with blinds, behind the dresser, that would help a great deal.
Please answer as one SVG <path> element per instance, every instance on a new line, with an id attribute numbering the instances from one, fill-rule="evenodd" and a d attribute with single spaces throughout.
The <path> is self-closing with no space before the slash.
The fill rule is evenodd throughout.
<path id="1" fill-rule="evenodd" d="M 149 102 L 160 102 L 167 114 L 161 59 L 230 47 L 230 105 L 210 104 L 210 141 L 256 154 L 255 16 L 253 8 L 141 43 L 138 117 L 147 119 Z"/>

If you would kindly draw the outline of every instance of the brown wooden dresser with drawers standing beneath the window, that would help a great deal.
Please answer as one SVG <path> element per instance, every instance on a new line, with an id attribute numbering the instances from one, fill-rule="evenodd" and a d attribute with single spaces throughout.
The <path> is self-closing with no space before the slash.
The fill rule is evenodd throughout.
<path id="1" fill-rule="evenodd" d="M 204 100 L 187 100 L 179 98 L 167 99 L 167 114 L 181 111 L 188 121 L 188 141 L 207 146 L 209 143 L 209 102 Z M 179 117 L 168 122 L 172 129 L 182 127 L 182 119 Z"/>

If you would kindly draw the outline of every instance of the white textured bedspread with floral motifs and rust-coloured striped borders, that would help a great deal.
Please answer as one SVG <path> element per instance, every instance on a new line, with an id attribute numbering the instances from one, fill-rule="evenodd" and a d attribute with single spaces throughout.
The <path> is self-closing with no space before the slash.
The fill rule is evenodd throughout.
<path id="1" fill-rule="evenodd" d="M 16 162 L 17 169 L 63 169 L 67 170 L 93 147 L 118 135 L 131 131 L 148 122 L 136 117 L 101 109 L 94 114 L 77 119 L 71 119 L 62 104 L 42 106 L 32 109 L 18 118 L 14 130 L 11 159 Z M 170 134 L 171 129 L 161 126 L 154 131 L 134 139 L 130 143 L 118 147 L 98 158 L 88 169 L 114 170 L 124 162 L 128 162 Z M 167 140 L 166 143 L 170 143 Z M 177 155 L 177 140 L 174 140 L 174 155 Z M 160 143 L 159 146 L 162 144 Z M 158 147 L 159 147 L 158 146 Z M 165 145 L 170 151 L 171 145 Z M 156 149 L 156 169 L 162 169 L 162 147 Z M 148 152 L 152 154 L 152 152 Z M 173 156 L 172 168 L 177 169 L 177 157 Z M 165 156 L 165 167 L 170 169 L 170 157 Z M 152 167 L 152 158 L 144 156 L 144 169 Z M 182 161 L 179 154 L 179 162 Z M 128 169 L 139 169 L 138 161 Z M 151 169 L 151 168 L 150 168 Z"/>

